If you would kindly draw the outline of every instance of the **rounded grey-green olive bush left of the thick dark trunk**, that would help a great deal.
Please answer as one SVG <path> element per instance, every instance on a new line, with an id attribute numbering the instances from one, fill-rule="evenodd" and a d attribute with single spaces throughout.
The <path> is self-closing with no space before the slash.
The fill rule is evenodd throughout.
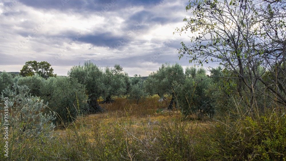
<path id="1" fill-rule="evenodd" d="M 41 91 L 41 98 L 49 103 L 46 111 L 56 112 L 55 121 L 59 123 L 70 122 L 88 111 L 85 88 L 76 79 L 50 77 L 41 87 Z"/>

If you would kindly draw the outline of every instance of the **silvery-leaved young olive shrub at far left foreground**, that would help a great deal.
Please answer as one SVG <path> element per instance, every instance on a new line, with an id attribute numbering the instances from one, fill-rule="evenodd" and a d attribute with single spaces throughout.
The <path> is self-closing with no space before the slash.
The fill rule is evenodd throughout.
<path id="1" fill-rule="evenodd" d="M 51 135 L 51 130 L 55 127 L 51 122 L 55 119 L 55 113 L 42 113 L 45 106 L 43 100 L 29 95 L 29 88 L 25 85 L 16 84 L 13 89 L 6 88 L 3 93 L 8 97 L 8 109 L 12 112 L 9 120 L 13 137 L 21 140 Z M 2 95 L 1 100 L 4 100 L 4 97 Z"/>

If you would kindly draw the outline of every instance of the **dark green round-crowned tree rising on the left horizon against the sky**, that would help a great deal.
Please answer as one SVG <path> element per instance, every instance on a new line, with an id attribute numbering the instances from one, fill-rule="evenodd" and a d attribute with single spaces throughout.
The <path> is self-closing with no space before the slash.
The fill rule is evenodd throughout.
<path id="1" fill-rule="evenodd" d="M 57 75 L 53 74 L 53 68 L 51 67 L 51 64 L 46 61 L 37 62 L 36 60 L 34 60 L 25 62 L 25 65 L 21 69 L 20 75 L 33 76 L 35 74 L 39 74 L 41 77 L 46 79 L 48 77 Z"/>

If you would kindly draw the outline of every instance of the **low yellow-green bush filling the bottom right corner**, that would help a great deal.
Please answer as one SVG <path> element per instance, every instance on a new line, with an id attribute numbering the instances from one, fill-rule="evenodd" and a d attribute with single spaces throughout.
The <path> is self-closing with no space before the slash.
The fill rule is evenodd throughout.
<path id="1" fill-rule="evenodd" d="M 267 112 L 258 118 L 243 117 L 237 121 L 215 124 L 203 151 L 214 160 L 285 160 L 285 112 Z M 205 156 L 202 156 L 205 157 Z"/>

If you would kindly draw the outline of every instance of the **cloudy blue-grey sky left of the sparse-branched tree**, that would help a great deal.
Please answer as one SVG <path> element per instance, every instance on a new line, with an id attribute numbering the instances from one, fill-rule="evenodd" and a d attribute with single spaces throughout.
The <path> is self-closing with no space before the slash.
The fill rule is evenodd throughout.
<path id="1" fill-rule="evenodd" d="M 47 61 L 54 73 L 85 60 L 148 76 L 178 59 L 188 0 L 0 0 L 0 71 Z"/>

